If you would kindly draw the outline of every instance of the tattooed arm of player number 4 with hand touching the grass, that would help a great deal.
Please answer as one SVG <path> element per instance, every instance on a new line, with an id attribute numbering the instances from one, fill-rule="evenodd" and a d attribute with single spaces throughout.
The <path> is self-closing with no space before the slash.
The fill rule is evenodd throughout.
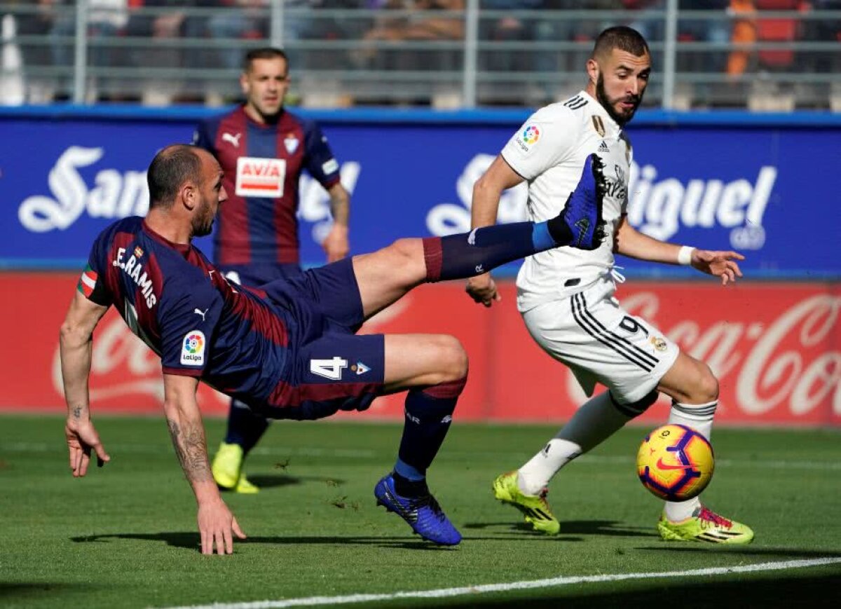
<path id="1" fill-rule="evenodd" d="M 198 532 L 202 553 L 234 552 L 234 535 L 245 539 L 236 518 L 225 505 L 210 473 L 204 423 L 196 402 L 198 379 L 164 374 L 164 411 L 172 446 L 198 503 Z"/>

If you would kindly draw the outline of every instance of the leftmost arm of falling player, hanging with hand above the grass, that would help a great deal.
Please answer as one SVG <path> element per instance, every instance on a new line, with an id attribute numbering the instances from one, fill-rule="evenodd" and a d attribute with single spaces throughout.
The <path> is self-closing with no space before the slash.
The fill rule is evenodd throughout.
<path id="1" fill-rule="evenodd" d="M 64 323 L 61 324 L 59 357 L 61 381 L 64 384 L 67 402 L 64 435 L 74 478 L 81 478 L 87 474 L 92 452 L 97 455 L 99 467 L 111 460 L 91 422 L 87 392 L 87 377 L 91 372 L 93 329 L 107 310 L 108 307 L 93 303 L 81 292 L 76 292 Z"/>

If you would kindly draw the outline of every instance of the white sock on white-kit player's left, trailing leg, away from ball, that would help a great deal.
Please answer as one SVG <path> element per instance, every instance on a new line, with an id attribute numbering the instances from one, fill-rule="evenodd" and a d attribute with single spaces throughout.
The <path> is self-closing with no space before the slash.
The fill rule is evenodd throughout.
<path id="1" fill-rule="evenodd" d="M 564 465 L 610 437 L 632 419 L 616 409 L 609 391 L 584 402 L 542 451 L 519 469 L 517 486 L 537 495 Z"/>

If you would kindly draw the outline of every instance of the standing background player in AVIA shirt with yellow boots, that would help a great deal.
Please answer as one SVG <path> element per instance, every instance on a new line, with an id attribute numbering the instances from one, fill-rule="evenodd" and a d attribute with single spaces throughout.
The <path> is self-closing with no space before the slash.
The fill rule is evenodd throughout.
<path id="1" fill-rule="evenodd" d="M 304 169 L 330 193 L 333 225 L 322 243 L 327 262 L 347 255 L 350 195 L 318 125 L 283 109 L 289 87 L 283 50 L 249 51 L 240 84 L 246 102 L 199 124 L 193 144 L 220 162 L 230 197 L 220 209 L 214 259 L 235 283 L 258 286 L 301 272 L 296 214 Z M 267 426 L 266 418 L 231 402 L 228 429 L 213 463 L 221 488 L 257 492 L 242 463 Z"/>

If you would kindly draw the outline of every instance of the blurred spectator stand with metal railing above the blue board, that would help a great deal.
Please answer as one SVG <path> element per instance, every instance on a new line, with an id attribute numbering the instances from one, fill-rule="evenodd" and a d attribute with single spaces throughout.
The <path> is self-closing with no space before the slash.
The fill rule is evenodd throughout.
<path id="1" fill-rule="evenodd" d="M 595 35 L 628 24 L 652 52 L 647 106 L 841 109 L 841 1 L 773 12 L 678 10 L 677 0 L 642 10 L 557 8 L 563 0 L 510 0 L 527 7 L 517 10 L 485 8 L 501 0 L 207 4 L 0 3 L 0 103 L 225 103 L 239 94 L 246 50 L 276 45 L 290 58 L 293 103 L 537 105 L 583 87 Z"/>

